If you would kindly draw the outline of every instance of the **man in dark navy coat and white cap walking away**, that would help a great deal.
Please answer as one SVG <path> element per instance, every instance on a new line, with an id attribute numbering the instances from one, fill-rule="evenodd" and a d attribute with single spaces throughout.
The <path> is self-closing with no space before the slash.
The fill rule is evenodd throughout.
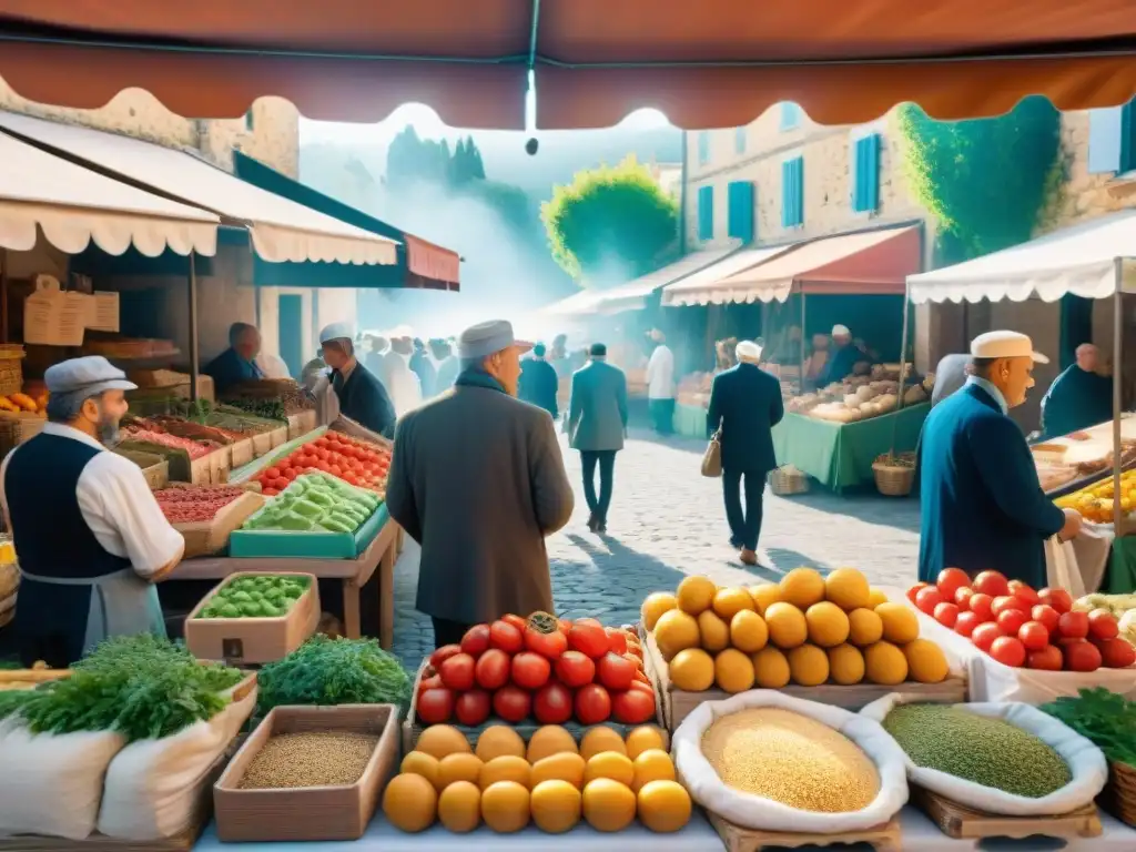
<path id="1" fill-rule="evenodd" d="M 763 498 L 769 471 L 777 467 L 772 428 L 785 416 L 780 382 L 761 369 L 761 346 L 737 344 L 737 366 L 715 376 L 707 410 L 707 433 L 721 429 L 721 491 L 729 543 L 746 565 L 758 563 Z M 742 488 L 745 511 L 742 511 Z"/>

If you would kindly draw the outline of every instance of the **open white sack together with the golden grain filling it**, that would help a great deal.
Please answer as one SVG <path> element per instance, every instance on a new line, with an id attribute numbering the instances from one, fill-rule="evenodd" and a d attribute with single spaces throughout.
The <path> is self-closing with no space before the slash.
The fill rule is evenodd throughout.
<path id="1" fill-rule="evenodd" d="M 784 743 L 787 747 L 769 749 L 751 741 L 752 759 L 746 759 L 741 747 L 733 746 L 710 754 L 703 752 L 703 736 L 708 732 L 708 749 L 713 749 L 719 722 L 742 724 L 753 711 L 777 717 L 772 732 L 778 727 L 790 729 Z M 810 729 L 794 730 L 802 726 Z M 743 728 L 738 736 L 750 737 L 754 729 Z M 821 767 L 810 765 L 809 754 L 791 753 L 821 738 L 832 741 L 832 754 L 842 754 L 842 760 L 834 762 L 834 758 Z M 700 704 L 675 732 L 671 753 L 694 801 L 745 828 L 817 834 L 857 832 L 887 822 L 908 801 L 905 755 L 878 722 L 838 707 L 772 690 L 752 690 L 726 701 Z M 784 766 L 774 765 L 775 754 Z M 724 761 L 733 761 L 733 768 Z M 872 777 L 864 776 L 866 769 Z M 727 785 L 719 775 L 733 776 L 735 771 L 755 777 L 752 788 L 761 788 L 762 794 L 746 792 L 737 783 Z M 754 772 L 765 775 L 752 776 Z M 834 795 L 855 809 L 830 807 Z M 826 797 L 825 803 L 818 802 L 817 796 Z M 797 807 L 785 801 L 797 802 Z M 820 810 L 826 807 L 827 810 Z"/>

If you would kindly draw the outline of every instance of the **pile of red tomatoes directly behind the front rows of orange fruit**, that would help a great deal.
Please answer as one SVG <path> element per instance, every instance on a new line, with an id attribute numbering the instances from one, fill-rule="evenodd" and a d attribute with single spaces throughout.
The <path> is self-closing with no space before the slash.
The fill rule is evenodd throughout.
<path id="1" fill-rule="evenodd" d="M 424 725 L 542 725 L 608 719 L 640 725 L 654 718 L 654 690 L 643 673 L 634 632 L 593 618 L 506 616 L 470 627 L 460 645 L 436 650 L 423 671 L 415 713 Z"/>

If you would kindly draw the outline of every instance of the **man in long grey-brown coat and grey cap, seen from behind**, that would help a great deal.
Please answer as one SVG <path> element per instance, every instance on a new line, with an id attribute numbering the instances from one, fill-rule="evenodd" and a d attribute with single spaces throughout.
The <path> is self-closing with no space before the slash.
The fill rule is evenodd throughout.
<path id="1" fill-rule="evenodd" d="M 552 418 L 516 399 L 529 348 L 503 320 L 467 328 L 454 386 L 399 420 L 386 506 L 421 544 L 417 607 L 438 648 L 506 613 L 556 611 L 544 537 L 574 498 Z"/>

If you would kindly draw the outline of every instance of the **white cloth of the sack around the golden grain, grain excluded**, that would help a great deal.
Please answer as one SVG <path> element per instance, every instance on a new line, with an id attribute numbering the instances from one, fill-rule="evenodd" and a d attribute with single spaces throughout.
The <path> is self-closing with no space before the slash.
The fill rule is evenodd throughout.
<path id="1" fill-rule="evenodd" d="M 715 721 L 753 708 L 777 708 L 835 728 L 854 742 L 879 771 L 879 793 L 871 803 L 847 813 L 818 813 L 790 808 L 765 796 L 743 793 L 722 784 L 702 754 L 702 735 Z M 671 737 L 675 766 L 691 797 L 735 825 L 767 832 L 841 834 L 887 822 L 908 801 L 907 755 L 878 722 L 843 708 L 784 695 L 772 690 L 751 690 L 726 701 L 708 701 L 695 708 Z"/>

